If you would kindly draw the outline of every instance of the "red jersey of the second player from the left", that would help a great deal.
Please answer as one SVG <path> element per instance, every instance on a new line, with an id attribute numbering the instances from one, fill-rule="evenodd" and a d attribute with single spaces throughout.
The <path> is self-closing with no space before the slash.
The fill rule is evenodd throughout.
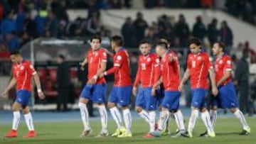
<path id="1" fill-rule="evenodd" d="M 87 62 L 88 62 L 88 79 L 92 79 L 95 74 L 97 74 L 97 70 L 100 70 L 101 62 L 107 62 L 107 53 L 105 50 L 100 49 L 97 51 L 89 50 L 87 55 Z M 95 84 L 105 84 L 105 78 L 98 78 Z"/>

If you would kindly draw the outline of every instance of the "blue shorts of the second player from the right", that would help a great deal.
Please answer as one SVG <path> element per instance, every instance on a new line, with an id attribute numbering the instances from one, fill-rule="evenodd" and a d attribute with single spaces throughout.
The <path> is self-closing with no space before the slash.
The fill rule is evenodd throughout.
<path id="1" fill-rule="evenodd" d="M 191 89 L 192 104 L 194 108 L 206 108 L 206 96 L 208 91 L 206 89 Z"/>

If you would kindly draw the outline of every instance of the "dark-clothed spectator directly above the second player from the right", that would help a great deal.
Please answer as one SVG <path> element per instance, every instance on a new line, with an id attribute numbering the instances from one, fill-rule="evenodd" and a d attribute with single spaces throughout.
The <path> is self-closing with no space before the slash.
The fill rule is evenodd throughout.
<path id="1" fill-rule="evenodd" d="M 193 25 L 193 36 L 199 38 L 201 42 L 206 36 L 206 26 L 203 24 L 201 16 L 196 17 L 196 23 Z"/>

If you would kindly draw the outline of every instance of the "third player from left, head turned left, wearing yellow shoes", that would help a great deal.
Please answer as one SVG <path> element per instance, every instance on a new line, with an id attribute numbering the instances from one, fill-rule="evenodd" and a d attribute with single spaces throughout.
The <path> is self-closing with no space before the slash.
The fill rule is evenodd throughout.
<path id="1" fill-rule="evenodd" d="M 117 138 L 132 137 L 131 126 L 132 116 L 129 111 L 129 104 L 132 94 L 132 79 L 129 74 L 129 55 L 127 50 L 122 47 L 123 40 L 120 36 L 114 35 L 111 39 L 111 47 L 116 53 L 114 55 L 114 66 L 100 75 L 109 75 L 114 73 L 114 87 L 110 92 L 108 107 L 110 113 L 117 123 L 117 129 L 112 134 Z M 122 107 L 125 128 L 122 126 L 122 117 L 117 109 L 117 105 Z"/>

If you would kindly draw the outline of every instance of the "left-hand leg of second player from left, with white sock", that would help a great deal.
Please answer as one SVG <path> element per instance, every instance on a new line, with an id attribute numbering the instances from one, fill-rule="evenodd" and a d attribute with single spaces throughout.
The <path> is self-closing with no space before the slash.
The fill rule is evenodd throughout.
<path id="1" fill-rule="evenodd" d="M 78 106 L 80 108 L 82 123 L 84 125 L 84 129 L 80 138 L 84 138 L 85 136 L 91 133 L 90 123 L 89 123 L 89 113 L 87 109 L 87 103 L 91 99 L 92 85 L 85 85 L 82 89 L 82 93 L 80 94 L 80 99 L 78 102 Z"/>

